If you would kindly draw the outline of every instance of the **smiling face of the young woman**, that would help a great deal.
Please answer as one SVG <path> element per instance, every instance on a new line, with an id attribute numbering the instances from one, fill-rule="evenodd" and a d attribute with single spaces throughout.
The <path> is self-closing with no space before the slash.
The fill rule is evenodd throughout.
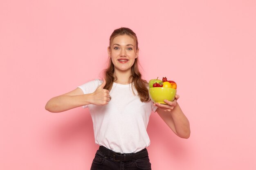
<path id="1" fill-rule="evenodd" d="M 135 40 L 129 35 L 115 37 L 108 47 L 108 56 L 111 57 L 115 71 L 130 71 L 138 53 L 139 50 L 135 49 Z"/>

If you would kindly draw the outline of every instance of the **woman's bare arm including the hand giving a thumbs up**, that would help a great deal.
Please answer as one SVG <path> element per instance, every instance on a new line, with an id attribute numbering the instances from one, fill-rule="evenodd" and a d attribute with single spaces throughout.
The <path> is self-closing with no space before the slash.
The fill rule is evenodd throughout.
<path id="1" fill-rule="evenodd" d="M 108 104 L 110 95 L 108 90 L 103 89 L 105 84 L 106 81 L 104 79 L 103 83 L 96 89 L 96 91 L 90 94 L 83 94 L 83 91 L 80 88 L 76 88 L 69 93 L 53 97 L 47 102 L 45 109 L 49 112 L 58 113 L 87 104 Z"/>

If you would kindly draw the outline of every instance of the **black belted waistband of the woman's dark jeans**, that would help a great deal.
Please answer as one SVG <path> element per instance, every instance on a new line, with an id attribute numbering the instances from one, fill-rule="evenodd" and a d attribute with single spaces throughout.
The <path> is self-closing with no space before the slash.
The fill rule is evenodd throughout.
<path id="1" fill-rule="evenodd" d="M 113 158 L 115 161 L 132 161 L 148 156 L 148 151 L 146 148 L 136 153 L 114 152 L 104 146 L 100 146 L 99 150 L 103 152 L 106 156 Z"/>

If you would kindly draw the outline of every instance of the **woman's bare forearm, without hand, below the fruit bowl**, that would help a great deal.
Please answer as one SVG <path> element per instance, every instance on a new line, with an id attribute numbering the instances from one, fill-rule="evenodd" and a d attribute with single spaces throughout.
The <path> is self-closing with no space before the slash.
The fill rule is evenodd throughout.
<path id="1" fill-rule="evenodd" d="M 189 120 L 186 118 L 182 112 L 179 104 L 171 110 L 171 117 L 173 119 L 173 124 L 175 126 L 176 134 L 182 138 L 189 138 L 190 136 L 190 125 Z"/>

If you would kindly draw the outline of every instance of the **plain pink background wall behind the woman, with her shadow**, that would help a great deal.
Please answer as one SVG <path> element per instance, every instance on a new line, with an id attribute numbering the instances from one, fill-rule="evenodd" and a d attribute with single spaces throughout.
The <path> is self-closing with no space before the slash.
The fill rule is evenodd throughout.
<path id="1" fill-rule="evenodd" d="M 1 0 L 0 169 L 88 170 L 98 148 L 87 109 L 48 99 L 99 78 L 121 26 L 139 39 L 144 78 L 178 84 L 191 137 L 157 114 L 153 170 L 256 169 L 255 0 Z"/>

